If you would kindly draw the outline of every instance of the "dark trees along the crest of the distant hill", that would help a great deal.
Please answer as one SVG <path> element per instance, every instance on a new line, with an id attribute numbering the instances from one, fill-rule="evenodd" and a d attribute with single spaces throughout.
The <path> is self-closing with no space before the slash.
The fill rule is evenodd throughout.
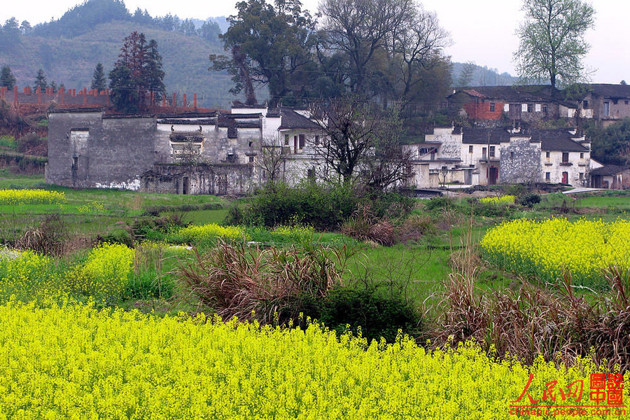
<path id="1" fill-rule="evenodd" d="M 29 22 L 24 21 L 20 25 L 18 20 L 11 18 L 6 21 L 0 32 L 0 42 L 2 38 L 10 41 L 19 41 L 20 35 L 34 35 L 45 38 L 73 38 L 94 30 L 99 24 L 121 20 L 133 22 L 144 27 L 153 27 L 165 31 L 174 31 L 186 36 L 200 36 L 207 41 L 218 43 L 218 35 L 221 28 L 214 21 L 206 21 L 200 27 L 195 25 L 192 19 L 181 19 L 177 15 L 170 13 L 153 18 L 147 10 L 137 8 L 134 13 L 130 13 L 122 0 L 89 0 L 68 10 L 58 20 L 42 23 L 31 27 Z M 9 39 L 10 38 L 10 41 Z"/>

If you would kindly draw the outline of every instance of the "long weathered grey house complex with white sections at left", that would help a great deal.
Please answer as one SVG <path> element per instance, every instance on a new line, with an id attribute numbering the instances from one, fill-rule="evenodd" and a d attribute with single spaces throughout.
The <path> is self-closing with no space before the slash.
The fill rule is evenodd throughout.
<path id="1" fill-rule="evenodd" d="M 302 113 L 300 113 L 302 112 Z M 295 183 L 316 160 L 318 126 L 295 109 L 237 105 L 232 112 L 49 114 L 47 183 L 156 193 L 244 195 L 264 183 L 264 148 L 278 148 Z"/>

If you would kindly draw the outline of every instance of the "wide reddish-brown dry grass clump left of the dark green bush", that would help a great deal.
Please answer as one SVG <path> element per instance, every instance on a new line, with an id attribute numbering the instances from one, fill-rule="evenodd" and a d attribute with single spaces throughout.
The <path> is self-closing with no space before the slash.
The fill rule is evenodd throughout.
<path id="1" fill-rule="evenodd" d="M 179 277 L 223 318 L 260 323 L 297 321 L 333 286 L 342 283 L 352 251 L 324 248 L 247 246 L 218 239 L 208 253 L 196 253 Z"/>

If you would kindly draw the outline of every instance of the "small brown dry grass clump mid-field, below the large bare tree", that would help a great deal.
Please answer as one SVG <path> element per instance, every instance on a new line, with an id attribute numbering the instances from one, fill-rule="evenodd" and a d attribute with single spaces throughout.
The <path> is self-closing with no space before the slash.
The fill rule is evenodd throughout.
<path id="1" fill-rule="evenodd" d="M 352 216 L 343 223 L 341 232 L 358 241 L 374 241 L 384 246 L 395 244 L 393 225 L 374 216 L 367 204 L 357 207 Z"/>

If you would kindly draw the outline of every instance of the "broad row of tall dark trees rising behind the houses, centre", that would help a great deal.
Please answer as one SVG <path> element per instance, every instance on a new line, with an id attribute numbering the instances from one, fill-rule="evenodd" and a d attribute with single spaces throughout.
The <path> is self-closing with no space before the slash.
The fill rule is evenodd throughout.
<path id="1" fill-rule="evenodd" d="M 317 19 L 297 0 L 241 1 L 237 10 L 221 36 L 226 54 L 210 59 L 250 104 L 262 85 L 270 106 L 353 94 L 426 114 L 449 93 L 449 33 L 414 1 L 324 0 Z"/>

